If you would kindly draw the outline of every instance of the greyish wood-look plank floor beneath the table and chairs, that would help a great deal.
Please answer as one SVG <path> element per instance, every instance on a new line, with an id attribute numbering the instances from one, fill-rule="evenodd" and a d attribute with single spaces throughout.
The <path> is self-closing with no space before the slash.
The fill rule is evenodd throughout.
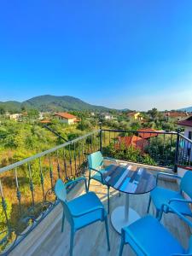
<path id="1" fill-rule="evenodd" d="M 160 180 L 160 186 L 164 186 L 169 189 L 177 189 L 177 183 Z M 103 204 L 107 208 L 107 189 L 102 186 L 100 183 L 96 183 L 92 180 L 90 185 L 90 190 L 95 191 L 96 194 L 101 198 Z M 145 195 L 131 195 L 130 196 L 130 207 L 136 210 L 140 216 L 144 216 L 147 212 L 148 206 L 148 194 Z M 110 211 L 112 212 L 115 207 L 125 204 L 125 195 L 121 193 L 119 197 L 119 192 L 114 189 L 111 189 L 111 198 L 110 198 Z M 150 207 L 150 213 L 154 214 L 154 207 Z M 187 225 L 174 216 L 173 214 L 166 214 L 162 218 L 161 222 L 166 226 L 168 230 L 171 230 L 174 236 L 177 237 L 179 241 L 183 244 L 183 247 L 188 246 L 188 239 L 190 236 L 190 230 Z M 109 224 L 109 235 L 110 235 L 110 244 L 111 251 L 108 252 L 106 235 L 104 230 L 104 224 L 97 222 L 91 224 L 90 226 L 79 230 L 75 235 L 73 255 L 79 256 L 103 256 L 103 255 L 119 255 L 119 244 L 120 236 L 113 230 L 113 226 L 110 221 L 110 214 L 108 215 L 108 224 Z M 157 239 L 163 239 L 157 237 Z M 32 254 L 35 256 L 67 256 L 69 255 L 69 241 L 70 241 L 70 229 L 67 221 L 65 223 L 64 232 L 61 233 L 61 221 L 55 225 L 54 230 L 51 234 L 40 244 L 38 249 Z M 131 247 L 125 246 L 123 255 L 135 255 L 131 251 Z"/>

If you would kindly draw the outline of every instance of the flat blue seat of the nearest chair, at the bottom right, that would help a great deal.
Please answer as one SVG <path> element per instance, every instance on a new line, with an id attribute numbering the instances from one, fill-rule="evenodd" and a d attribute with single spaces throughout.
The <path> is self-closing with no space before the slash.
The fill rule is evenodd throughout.
<path id="1" fill-rule="evenodd" d="M 137 255 L 171 256 L 173 253 L 186 253 L 172 234 L 152 216 L 140 218 L 124 230 L 125 242 L 131 244 Z M 145 253 L 138 250 L 137 245 L 142 247 Z"/>

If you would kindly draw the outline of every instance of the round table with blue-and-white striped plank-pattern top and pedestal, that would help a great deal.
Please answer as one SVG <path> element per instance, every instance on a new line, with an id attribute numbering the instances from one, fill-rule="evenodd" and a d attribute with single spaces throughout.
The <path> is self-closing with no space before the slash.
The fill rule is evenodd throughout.
<path id="1" fill-rule="evenodd" d="M 156 186 L 156 178 L 146 168 L 133 165 L 110 165 L 103 178 L 110 187 L 125 193 L 125 206 L 116 207 L 111 213 L 113 228 L 121 233 L 123 227 L 140 218 L 130 207 L 129 196 L 150 192 Z"/>

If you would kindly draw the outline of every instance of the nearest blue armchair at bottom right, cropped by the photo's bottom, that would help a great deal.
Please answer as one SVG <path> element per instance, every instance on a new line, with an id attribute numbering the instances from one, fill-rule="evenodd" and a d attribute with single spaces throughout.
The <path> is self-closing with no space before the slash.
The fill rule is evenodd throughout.
<path id="1" fill-rule="evenodd" d="M 163 205 L 164 212 L 174 212 L 177 216 L 190 227 L 192 223 L 180 212 L 170 205 Z M 192 255 L 192 236 L 189 240 L 189 249 L 185 250 L 179 241 L 172 236 L 166 228 L 160 224 L 162 215 L 160 211 L 159 218 L 150 215 L 139 218 L 136 222 L 121 230 L 121 244 L 119 256 L 123 253 L 125 244 L 129 244 L 139 256 L 184 256 Z"/>

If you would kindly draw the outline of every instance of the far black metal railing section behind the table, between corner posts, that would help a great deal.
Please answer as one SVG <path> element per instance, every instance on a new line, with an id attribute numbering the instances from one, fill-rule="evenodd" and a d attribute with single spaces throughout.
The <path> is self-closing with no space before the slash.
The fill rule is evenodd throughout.
<path id="1" fill-rule="evenodd" d="M 102 153 L 121 160 L 175 168 L 177 132 L 102 130 Z"/>

